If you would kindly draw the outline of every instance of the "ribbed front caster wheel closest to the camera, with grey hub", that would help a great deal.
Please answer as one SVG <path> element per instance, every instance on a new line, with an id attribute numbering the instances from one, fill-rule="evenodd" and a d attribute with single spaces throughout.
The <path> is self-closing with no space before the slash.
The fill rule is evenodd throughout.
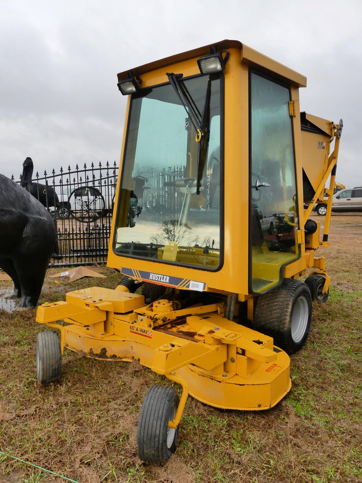
<path id="1" fill-rule="evenodd" d="M 137 450 L 146 463 L 161 464 L 176 451 L 179 429 L 168 427 L 179 405 L 176 389 L 151 386 L 143 400 L 137 426 Z"/>

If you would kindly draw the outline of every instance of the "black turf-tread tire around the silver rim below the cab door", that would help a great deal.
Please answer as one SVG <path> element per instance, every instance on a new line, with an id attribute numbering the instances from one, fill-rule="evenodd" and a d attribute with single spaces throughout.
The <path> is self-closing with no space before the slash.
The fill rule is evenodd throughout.
<path id="1" fill-rule="evenodd" d="M 300 296 L 306 298 L 309 314 L 304 336 L 296 343 L 292 339 L 291 318 L 294 304 Z M 300 280 L 286 278 L 279 287 L 258 297 L 253 329 L 272 337 L 274 344 L 290 355 L 306 343 L 311 317 L 312 299 L 308 286 Z"/>

